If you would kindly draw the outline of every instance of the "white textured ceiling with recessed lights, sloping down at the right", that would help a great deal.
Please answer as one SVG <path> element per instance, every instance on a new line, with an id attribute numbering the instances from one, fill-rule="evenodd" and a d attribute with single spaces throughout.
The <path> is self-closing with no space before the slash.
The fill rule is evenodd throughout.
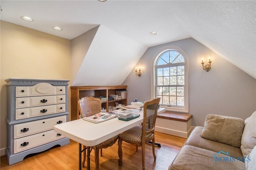
<path id="1" fill-rule="evenodd" d="M 66 39 L 98 25 L 144 47 L 192 37 L 256 78 L 256 1 L 1 0 L 0 5 L 1 20 Z"/>

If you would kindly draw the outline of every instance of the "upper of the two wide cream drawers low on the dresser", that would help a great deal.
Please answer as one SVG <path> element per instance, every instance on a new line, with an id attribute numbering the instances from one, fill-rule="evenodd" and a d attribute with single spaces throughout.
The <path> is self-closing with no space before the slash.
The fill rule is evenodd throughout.
<path id="1" fill-rule="evenodd" d="M 55 125 L 64 122 L 66 122 L 66 116 L 53 117 L 14 125 L 14 139 L 51 130 Z"/>

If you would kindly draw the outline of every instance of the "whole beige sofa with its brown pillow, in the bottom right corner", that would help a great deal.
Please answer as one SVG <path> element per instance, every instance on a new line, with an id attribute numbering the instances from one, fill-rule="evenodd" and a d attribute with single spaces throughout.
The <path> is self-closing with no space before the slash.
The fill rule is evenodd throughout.
<path id="1" fill-rule="evenodd" d="M 256 111 L 245 121 L 207 115 L 168 170 L 256 170 Z"/>

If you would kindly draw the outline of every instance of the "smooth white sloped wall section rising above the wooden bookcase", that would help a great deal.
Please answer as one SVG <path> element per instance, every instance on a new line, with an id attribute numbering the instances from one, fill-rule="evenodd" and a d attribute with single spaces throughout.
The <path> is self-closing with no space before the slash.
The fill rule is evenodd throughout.
<path id="1" fill-rule="evenodd" d="M 72 85 L 120 85 L 145 51 L 144 45 L 100 25 Z"/>

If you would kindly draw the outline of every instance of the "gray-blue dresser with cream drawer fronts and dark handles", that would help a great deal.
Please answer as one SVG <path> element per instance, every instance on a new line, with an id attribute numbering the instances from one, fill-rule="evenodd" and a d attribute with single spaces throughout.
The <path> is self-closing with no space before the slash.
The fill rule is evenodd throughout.
<path id="1" fill-rule="evenodd" d="M 9 78 L 7 82 L 7 148 L 9 165 L 25 156 L 69 139 L 54 132 L 54 125 L 68 121 L 69 80 Z"/>

